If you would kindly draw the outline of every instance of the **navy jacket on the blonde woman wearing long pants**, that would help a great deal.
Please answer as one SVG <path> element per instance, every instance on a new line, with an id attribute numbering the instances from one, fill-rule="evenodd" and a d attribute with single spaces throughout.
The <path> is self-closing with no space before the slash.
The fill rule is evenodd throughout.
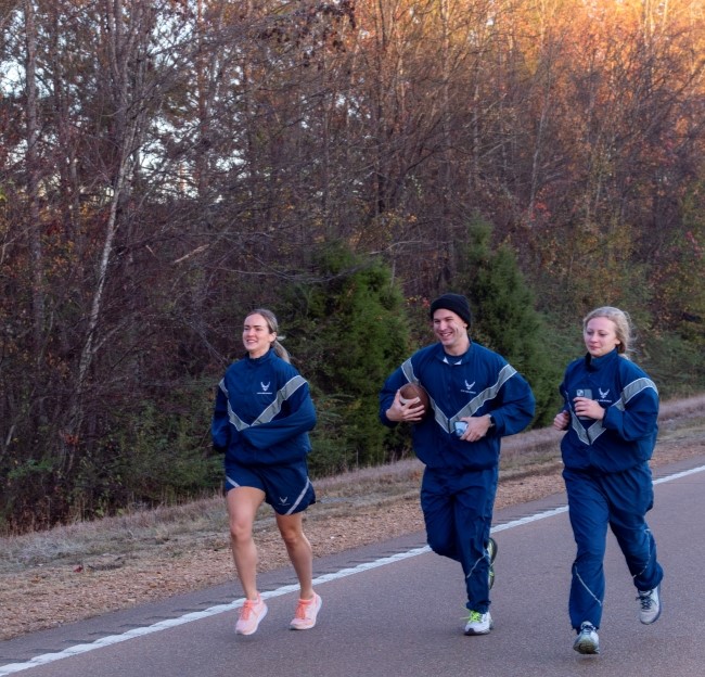
<path id="1" fill-rule="evenodd" d="M 581 421 L 573 399 L 589 389 L 605 409 L 602 421 Z M 615 348 L 603 357 L 574 360 L 561 384 L 571 424 L 561 440 L 563 462 L 573 470 L 621 472 L 648 461 L 658 433 L 658 391 L 637 365 Z"/>

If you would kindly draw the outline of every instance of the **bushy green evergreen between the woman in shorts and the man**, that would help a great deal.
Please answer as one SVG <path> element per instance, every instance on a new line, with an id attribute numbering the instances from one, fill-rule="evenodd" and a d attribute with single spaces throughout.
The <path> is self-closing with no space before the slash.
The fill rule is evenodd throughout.
<path id="1" fill-rule="evenodd" d="M 402 294 L 382 260 L 358 257 L 343 243 L 326 245 L 315 266 L 323 282 L 290 290 L 286 320 L 319 412 L 311 468 L 385 462 L 397 436 L 380 424 L 377 394 L 409 353 Z"/>

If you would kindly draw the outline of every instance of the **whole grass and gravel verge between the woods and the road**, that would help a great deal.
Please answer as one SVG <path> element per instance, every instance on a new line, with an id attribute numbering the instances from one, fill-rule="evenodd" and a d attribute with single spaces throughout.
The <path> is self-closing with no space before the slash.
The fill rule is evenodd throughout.
<path id="1" fill-rule="evenodd" d="M 662 406 L 652 464 L 705 455 L 705 396 Z M 504 440 L 496 507 L 563 490 L 560 433 Z M 316 482 L 306 512 L 317 557 L 423 529 L 422 465 L 406 460 Z M 286 566 L 271 509 L 256 524 L 260 571 Z M 220 496 L 0 538 L 0 640 L 234 579 Z"/>

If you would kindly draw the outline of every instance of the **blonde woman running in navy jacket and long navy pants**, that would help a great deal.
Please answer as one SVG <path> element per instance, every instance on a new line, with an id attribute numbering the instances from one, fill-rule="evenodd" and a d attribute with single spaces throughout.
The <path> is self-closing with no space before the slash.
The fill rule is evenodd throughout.
<path id="1" fill-rule="evenodd" d="M 577 544 L 569 597 L 571 623 L 578 634 L 574 649 L 599 653 L 607 525 L 638 590 L 641 622 L 654 623 L 661 614 L 664 573 L 645 521 L 654 498 L 649 460 L 658 430 L 658 392 L 627 358 L 626 312 L 612 307 L 592 310 L 584 320 L 584 340 L 588 353 L 565 371 L 565 406 L 553 426 L 567 431 L 561 450 Z"/>

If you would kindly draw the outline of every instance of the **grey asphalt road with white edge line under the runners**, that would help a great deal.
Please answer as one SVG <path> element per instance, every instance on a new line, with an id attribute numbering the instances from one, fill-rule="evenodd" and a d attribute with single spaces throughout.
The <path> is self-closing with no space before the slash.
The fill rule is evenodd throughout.
<path id="1" fill-rule="evenodd" d="M 251 637 L 233 631 L 233 584 L 0 642 L 0 677 L 700 677 L 705 457 L 659 469 L 656 478 L 649 522 L 666 571 L 664 612 L 652 626 L 639 623 L 636 591 L 610 536 L 599 656 L 572 649 L 574 542 L 565 497 L 556 495 L 495 515 L 496 626 L 488 636 L 463 635 L 460 566 L 414 534 L 317 560 L 323 608 L 311 630 L 287 629 L 296 588 L 282 570 L 260 577 L 269 614 Z"/>

